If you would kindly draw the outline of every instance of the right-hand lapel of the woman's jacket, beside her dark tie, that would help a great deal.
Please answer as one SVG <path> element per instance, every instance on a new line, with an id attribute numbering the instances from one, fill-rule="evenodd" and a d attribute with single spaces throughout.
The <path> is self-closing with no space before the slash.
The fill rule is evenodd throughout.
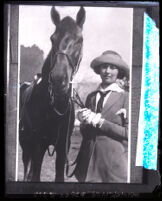
<path id="1" fill-rule="evenodd" d="M 114 105 L 118 100 L 120 100 L 120 95 L 121 93 L 112 91 L 112 93 L 110 94 L 107 102 L 105 103 L 102 109 L 102 114 L 104 114 L 107 110 L 110 109 L 112 105 Z"/>

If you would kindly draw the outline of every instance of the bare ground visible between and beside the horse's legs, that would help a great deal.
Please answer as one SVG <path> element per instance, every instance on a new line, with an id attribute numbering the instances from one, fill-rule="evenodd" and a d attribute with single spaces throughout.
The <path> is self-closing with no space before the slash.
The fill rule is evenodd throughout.
<path id="1" fill-rule="evenodd" d="M 74 132 L 71 137 L 71 146 L 70 146 L 70 151 L 69 151 L 69 162 L 72 163 L 78 154 L 80 145 L 81 145 L 81 134 L 79 132 L 79 128 L 75 127 Z M 50 147 L 53 149 L 53 147 Z M 54 156 L 50 157 L 48 155 L 48 152 L 46 151 L 43 164 L 42 164 L 42 170 L 41 170 L 41 181 L 44 182 L 53 182 L 55 179 L 55 154 Z M 23 163 L 22 163 L 22 151 L 21 147 L 19 146 L 19 164 L 18 164 L 18 178 L 19 181 L 23 180 Z M 75 166 L 70 167 L 69 173 L 72 172 Z M 67 178 L 65 176 L 65 182 L 77 182 L 75 177 Z"/>

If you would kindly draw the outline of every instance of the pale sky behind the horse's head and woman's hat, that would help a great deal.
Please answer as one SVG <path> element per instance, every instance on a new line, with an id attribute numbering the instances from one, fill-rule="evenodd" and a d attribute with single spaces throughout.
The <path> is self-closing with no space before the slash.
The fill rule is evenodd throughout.
<path id="1" fill-rule="evenodd" d="M 61 19 L 76 19 L 78 6 L 56 6 Z M 132 65 L 133 9 L 113 7 L 84 7 L 86 20 L 83 25 L 83 58 L 74 82 L 99 82 L 100 77 L 90 68 L 90 62 L 106 50 L 118 52 L 125 62 Z M 50 36 L 55 25 L 50 16 L 51 6 L 25 5 L 19 8 L 19 44 L 31 47 L 36 44 L 44 51 L 44 59 L 51 49 Z"/>

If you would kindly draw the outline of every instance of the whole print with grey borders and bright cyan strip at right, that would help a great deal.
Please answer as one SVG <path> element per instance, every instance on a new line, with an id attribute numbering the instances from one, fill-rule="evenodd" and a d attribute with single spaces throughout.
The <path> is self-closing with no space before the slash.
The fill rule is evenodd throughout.
<path id="1" fill-rule="evenodd" d="M 6 181 L 142 184 L 158 163 L 152 18 L 122 6 L 7 9 Z"/>

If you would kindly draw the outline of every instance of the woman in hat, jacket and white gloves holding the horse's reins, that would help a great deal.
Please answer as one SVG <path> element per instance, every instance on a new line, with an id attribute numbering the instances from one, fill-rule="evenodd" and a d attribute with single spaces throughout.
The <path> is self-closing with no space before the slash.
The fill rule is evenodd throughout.
<path id="1" fill-rule="evenodd" d="M 128 78 L 129 68 L 110 50 L 95 58 L 91 67 L 102 82 L 78 112 L 83 140 L 74 174 L 79 182 L 126 183 L 129 98 L 119 80 Z"/>

